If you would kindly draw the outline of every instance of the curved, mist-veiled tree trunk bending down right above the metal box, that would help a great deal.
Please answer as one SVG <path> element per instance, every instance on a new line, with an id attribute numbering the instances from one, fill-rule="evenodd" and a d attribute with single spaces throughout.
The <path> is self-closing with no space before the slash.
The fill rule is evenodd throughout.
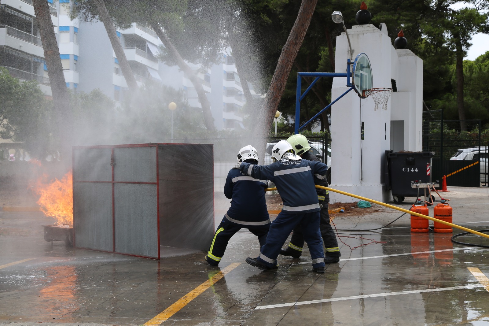
<path id="1" fill-rule="evenodd" d="M 202 106 L 205 127 L 207 130 L 216 130 L 216 127 L 214 126 L 214 118 L 212 117 L 211 113 L 211 106 L 199 78 L 197 78 L 194 71 L 192 71 L 192 69 L 185 63 L 183 58 L 180 56 L 180 53 L 178 53 L 178 50 L 173 46 L 172 42 L 168 39 L 160 26 L 157 23 L 151 23 L 151 26 L 156 31 L 159 39 L 166 47 L 166 50 L 172 56 L 173 60 L 175 60 L 178 67 L 187 75 L 188 79 L 190 79 L 192 82 L 192 85 L 194 85 L 197 96 L 200 100 L 200 105 Z"/>

